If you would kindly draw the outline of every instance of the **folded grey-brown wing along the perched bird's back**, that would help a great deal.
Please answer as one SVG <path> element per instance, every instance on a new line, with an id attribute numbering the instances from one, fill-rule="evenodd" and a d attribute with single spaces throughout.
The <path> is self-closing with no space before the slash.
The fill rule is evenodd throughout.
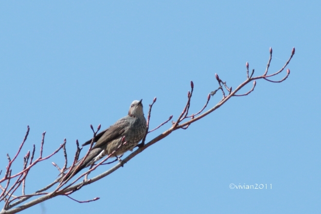
<path id="1" fill-rule="evenodd" d="M 112 140 L 119 138 L 125 133 L 128 127 L 129 120 L 127 117 L 123 117 L 122 119 L 118 120 L 114 125 L 111 125 L 109 128 L 104 130 L 104 133 L 99 137 L 99 139 L 97 139 L 97 143 L 92 147 L 92 149 L 106 145 Z M 86 143 L 90 144 L 91 140 L 88 142 L 89 143 Z"/>

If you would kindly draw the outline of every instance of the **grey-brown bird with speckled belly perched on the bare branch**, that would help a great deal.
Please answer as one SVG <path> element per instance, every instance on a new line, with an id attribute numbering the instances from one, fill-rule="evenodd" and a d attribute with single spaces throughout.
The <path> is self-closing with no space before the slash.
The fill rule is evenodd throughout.
<path id="1" fill-rule="evenodd" d="M 147 129 L 142 101 L 143 99 L 140 101 L 134 100 L 129 107 L 127 116 L 119 119 L 115 124 L 97 134 L 94 139 L 90 139 L 82 144 L 82 146 L 89 145 L 92 140 L 93 143 L 95 143 L 81 166 L 78 167 L 78 164 L 82 159 L 78 160 L 78 164 L 75 164 L 71 171 L 68 172 L 67 178 L 69 178 L 72 173 L 75 175 L 82 169 L 102 159 L 104 156 L 110 155 L 122 143 L 123 137 L 125 137 L 126 143 L 120 146 L 111 157 L 118 158 L 118 156 L 123 155 L 129 150 L 132 151 L 134 147 L 136 147 L 145 136 Z M 78 169 L 76 169 L 77 167 Z"/>

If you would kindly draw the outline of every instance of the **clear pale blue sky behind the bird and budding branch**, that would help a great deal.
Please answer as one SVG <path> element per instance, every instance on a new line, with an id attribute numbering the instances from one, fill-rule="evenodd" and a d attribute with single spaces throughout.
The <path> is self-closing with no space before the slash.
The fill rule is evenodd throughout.
<path id="1" fill-rule="evenodd" d="M 317 0 L 1 1 L 1 169 L 27 125 L 23 154 L 34 143 L 38 149 L 47 131 L 44 154 L 67 138 L 71 162 L 75 140 L 92 136 L 89 125 L 107 128 L 133 100 L 143 99 L 146 115 L 157 97 L 155 127 L 178 117 L 191 80 L 196 112 L 217 88 L 215 73 L 235 88 L 247 61 L 262 74 L 272 47 L 270 71 L 277 71 L 296 48 L 285 82 L 258 81 L 249 96 L 232 98 L 73 195 L 100 200 L 60 196 L 22 213 L 321 213 L 320 11 Z M 27 193 L 56 178 L 52 161 L 62 165 L 62 153 L 30 172 Z M 21 163 L 22 155 L 14 169 Z"/>

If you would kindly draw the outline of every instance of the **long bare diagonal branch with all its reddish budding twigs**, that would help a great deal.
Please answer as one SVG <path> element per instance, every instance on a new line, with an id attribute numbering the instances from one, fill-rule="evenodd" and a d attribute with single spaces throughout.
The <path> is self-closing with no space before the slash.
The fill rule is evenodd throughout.
<path id="1" fill-rule="evenodd" d="M 90 201 L 94 201 L 94 200 L 97 200 L 99 199 L 99 197 L 96 197 L 92 200 L 87 200 L 87 201 L 79 201 L 79 200 L 76 200 L 74 198 L 72 198 L 70 195 L 72 193 L 74 193 L 75 191 L 78 191 L 80 190 L 82 187 L 86 186 L 86 185 L 89 185 L 90 183 L 93 183 L 93 182 L 96 182 L 98 180 L 100 180 L 101 178 L 104 178 L 106 177 L 107 175 L 113 173 L 114 171 L 116 171 L 117 169 L 119 169 L 120 167 L 124 166 L 124 164 L 126 162 L 128 162 L 129 160 L 131 160 L 132 158 L 134 158 L 136 155 L 138 155 L 139 153 L 143 152 L 143 150 L 145 150 L 146 148 L 148 148 L 149 146 L 153 145 L 154 143 L 157 143 L 159 142 L 160 140 L 162 140 L 163 138 L 167 137 L 169 134 L 171 134 L 173 131 L 177 130 L 177 129 L 187 129 L 189 127 L 189 125 L 191 125 L 192 123 L 196 122 L 197 120 L 205 117 L 206 115 L 210 114 L 211 112 L 213 112 L 214 110 L 216 110 L 217 108 L 221 107 L 225 102 L 227 102 L 231 97 L 233 96 L 245 96 L 245 95 L 248 95 L 250 94 L 250 92 L 252 92 L 256 86 L 256 81 L 255 80 L 258 80 L 258 79 L 265 79 L 267 81 L 270 81 L 270 82 L 275 82 L 275 83 L 280 83 L 282 81 L 284 81 L 287 76 L 289 75 L 290 73 L 290 70 L 287 69 L 287 74 L 286 76 L 280 80 L 280 81 L 272 81 L 272 80 L 269 80 L 267 79 L 267 77 L 270 77 L 270 76 L 274 76 L 278 73 L 280 73 L 281 71 L 283 71 L 285 69 L 285 67 L 287 66 L 287 64 L 289 63 L 289 61 L 291 60 L 293 54 L 295 53 L 295 49 L 293 48 L 292 50 L 292 54 L 289 58 L 289 60 L 285 63 L 284 67 L 277 71 L 276 73 L 273 73 L 271 75 L 267 75 L 267 72 L 268 72 L 268 68 L 269 68 L 269 65 L 270 65 L 270 62 L 271 62 L 271 57 L 272 57 L 272 49 L 270 49 L 270 57 L 269 57 L 269 60 L 268 60 L 268 63 L 267 63 L 267 69 L 266 71 L 264 72 L 263 75 L 261 76 L 256 76 L 256 77 L 252 77 L 253 76 L 253 73 L 254 73 L 254 70 L 252 70 L 252 73 L 251 75 L 249 75 L 249 63 L 247 62 L 246 63 L 246 67 L 247 67 L 247 79 L 241 83 L 238 87 L 236 87 L 236 89 L 232 90 L 232 87 L 228 87 L 226 82 L 223 82 L 217 74 L 215 74 L 215 77 L 216 77 L 216 80 L 218 82 L 218 85 L 219 85 L 219 88 L 212 91 L 210 94 L 208 94 L 208 98 L 207 98 L 207 102 L 206 104 L 204 105 L 204 107 L 202 107 L 202 109 L 200 111 L 198 111 L 196 114 L 192 114 L 190 116 L 187 116 L 188 115 L 188 111 L 189 111 L 189 108 L 190 108 L 190 101 L 191 101 L 191 97 L 192 97 L 192 93 L 193 93 L 193 90 L 194 90 L 194 83 L 191 81 L 191 92 L 188 92 L 188 100 L 187 100 L 187 103 L 182 111 L 182 113 L 180 114 L 180 116 L 178 117 L 178 120 L 177 122 L 174 122 L 174 124 L 169 128 L 167 129 L 166 131 L 164 131 L 163 133 L 161 133 L 160 135 L 158 135 L 156 138 L 152 139 L 151 141 L 149 141 L 148 143 L 144 144 L 145 142 L 145 139 L 146 139 L 146 135 L 149 133 L 149 132 L 152 132 L 152 131 L 155 131 L 157 130 L 160 126 L 166 124 L 168 121 L 170 121 L 172 119 L 172 116 L 164 123 L 160 124 L 158 127 L 156 127 L 155 129 L 151 130 L 151 131 L 148 131 L 149 129 L 149 121 L 150 121 L 150 115 L 151 115 L 151 108 L 153 106 L 153 104 L 156 102 L 156 97 L 154 98 L 153 100 L 153 103 L 151 105 L 149 105 L 149 112 L 148 112 L 148 116 L 147 116 L 147 121 L 146 121 L 146 134 L 143 138 L 143 141 L 142 141 L 142 145 L 135 151 L 133 151 L 131 154 L 129 154 L 127 157 L 125 157 L 125 159 L 121 160 L 119 163 L 117 163 L 116 165 L 112 166 L 109 170 L 107 170 L 106 172 L 98 175 L 98 176 L 95 176 L 93 178 L 90 178 L 88 179 L 88 175 L 90 172 L 94 171 L 95 169 L 97 169 L 97 167 L 99 165 L 103 165 L 103 164 L 109 164 L 109 163 L 112 163 L 112 162 L 115 162 L 117 160 L 120 160 L 120 159 L 116 159 L 116 160 L 113 160 L 111 162 L 107 162 L 105 163 L 106 160 L 108 160 L 110 157 L 114 157 L 116 156 L 116 152 L 119 148 L 121 148 L 121 146 L 125 145 L 126 142 L 125 142 L 125 138 L 122 139 L 122 143 L 120 143 L 120 145 L 118 146 L 117 149 L 115 149 L 115 151 L 113 151 L 111 154 L 109 154 L 107 157 L 105 157 L 103 160 L 101 160 L 98 164 L 93 164 L 90 166 L 89 170 L 87 170 L 86 172 L 84 172 L 83 174 L 81 174 L 80 176 L 78 176 L 78 178 L 74 179 L 70 184 L 66 185 L 67 182 L 74 176 L 74 173 L 76 170 L 74 170 L 73 168 L 76 167 L 75 169 L 78 169 L 77 167 L 80 167 L 81 164 L 83 163 L 83 161 L 88 157 L 89 155 L 89 152 L 93 146 L 93 141 L 95 139 L 95 136 L 97 134 L 97 132 L 100 130 L 100 125 L 98 125 L 98 128 L 97 128 L 97 131 L 94 131 L 92 125 L 90 125 L 90 128 L 92 129 L 93 133 L 94 133 L 94 136 L 91 140 L 91 143 L 90 143 L 90 147 L 89 147 L 89 150 L 87 151 L 86 155 L 84 156 L 83 159 L 81 160 L 78 160 L 79 158 L 79 154 L 80 154 L 80 150 L 81 148 L 79 148 L 79 143 L 78 141 L 76 141 L 76 144 L 77 144 L 77 149 L 76 149 L 76 152 L 75 152 L 75 156 L 74 156 L 74 159 L 73 159 L 73 162 L 71 164 L 71 167 L 69 167 L 69 170 L 67 172 L 67 174 L 63 175 L 63 172 L 65 170 L 67 170 L 67 151 L 66 151 L 66 139 L 64 140 L 64 143 L 60 145 L 60 147 L 55 150 L 51 155 L 45 157 L 45 158 L 42 158 L 42 150 L 43 150 L 43 144 L 44 144 L 44 135 L 45 135 L 45 132 L 43 133 L 43 137 L 42 137 L 42 142 L 41 142 L 41 145 L 40 145 L 40 156 L 39 158 L 37 158 L 34 162 L 33 162 L 33 158 L 34 158 L 34 153 L 35 153 L 35 145 L 34 145 L 34 148 L 33 148 L 33 152 L 31 153 L 31 157 L 30 157 L 30 151 L 28 151 L 28 153 L 26 154 L 26 156 L 24 157 L 24 161 L 23 161 L 23 169 L 16 173 L 15 175 L 11 176 L 12 175 L 12 169 L 11 169 L 11 165 L 12 165 L 12 162 L 18 157 L 18 154 L 22 148 L 22 145 L 24 144 L 25 140 L 27 139 L 27 136 L 28 136 L 28 133 L 29 133 L 29 126 L 28 126 L 28 130 L 27 130 L 27 133 L 25 135 L 25 139 L 24 141 L 20 144 L 20 147 L 18 149 L 18 152 L 16 154 L 16 156 L 11 160 L 9 155 L 7 156 L 8 158 L 8 166 L 6 167 L 6 173 L 4 175 L 4 178 L 1 178 L 0 179 L 0 183 L 3 182 L 3 181 L 6 181 L 6 186 L 5 187 L 2 187 L 0 185 L 0 188 L 2 190 L 2 193 L 0 194 L 0 201 L 4 200 L 5 201 L 5 205 L 4 205 L 4 208 L 2 209 L 2 211 L 0 211 L 0 214 L 14 214 L 14 213 L 18 213 L 22 210 L 25 210 L 31 206 L 34 206 L 42 201 L 45 201 L 45 200 L 48 200 L 50 198 L 53 198 L 55 196 L 67 196 L 69 198 L 71 198 L 72 200 L 75 200 L 79 203 L 85 203 L 85 202 L 90 202 Z M 245 94 L 241 94 L 241 95 L 237 95 L 236 93 L 242 89 L 244 86 L 246 86 L 247 84 L 249 84 L 251 81 L 253 80 L 253 86 L 252 88 Z M 225 89 L 229 92 L 228 96 L 225 95 L 225 92 L 223 89 L 223 86 L 225 87 Z M 215 106 L 213 106 L 212 108 L 208 109 L 207 111 L 203 112 L 203 110 L 208 106 L 209 104 L 209 101 L 210 101 L 210 97 L 211 95 L 213 96 L 217 90 L 221 90 L 222 91 L 222 94 L 223 94 L 223 98 L 222 100 L 220 100 Z M 184 123 L 181 123 L 179 124 L 180 122 L 182 122 L 184 119 L 186 118 L 191 118 L 189 121 L 186 121 Z M 64 152 L 64 158 L 65 158 L 65 163 L 64 163 L 64 167 L 62 169 L 60 169 L 54 162 L 53 162 L 53 165 L 57 167 L 57 169 L 61 172 L 61 174 L 63 175 L 62 177 L 60 178 L 57 178 L 53 183 L 49 184 L 48 186 L 36 191 L 35 193 L 32 193 L 32 194 L 28 194 L 28 195 L 25 195 L 25 178 L 26 176 L 28 175 L 29 173 L 29 170 L 35 166 L 38 162 L 42 161 L 42 160 L 46 160 L 46 159 L 49 159 L 51 158 L 54 154 L 56 154 L 60 149 L 63 149 L 63 152 Z M 30 157 L 30 163 L 29 165 L 27 164 L 28 163 L 28 160 L 29 160 L 29 157 Z M 117 157 L 117 156 L 116 156 Z M 74 170 L 72 171 L 71 173 L 71 170 Z M 1 171 L 0 171 L 1 173 Z M 71 173 L 71 174 L 70 174 Z M 17 180 L 14 182 L 14 184 L 12 186 L 9 187 L 9 184 L 10 184 L 10 181 L 12 178 L 15 178 L 15 177 L 18 177 Z M 76 183 L 79 179 L 83 178 L 84 177 L 84 180 L 79 182 L 79 183 Z M 60 182 L 59 182 L 60 180 Z M 15 191 L 18 189 L 18 187 L 21 185 L 22 183 L 22 195 L 21 196 L 14 196 L 13 194 L 15 193 Z M 57 187 L 52 191 L 52 192 L 44 192 L 46 190 L 48 190 L 49 188 L 53 187 L 54 184 L 58 183 Z M 76 183 L 76 184 L 75 184 Z M 22 204 L 22 205 L 19 205 L 21 204 L 22 202 L 32 198 L 32 197 L 35 197 L 35 199 L 33 200 L 30 200 L 28 202 L 26 202 L 25 204 Z M 19 206 L 18 206 L 19 205 Z"/>

